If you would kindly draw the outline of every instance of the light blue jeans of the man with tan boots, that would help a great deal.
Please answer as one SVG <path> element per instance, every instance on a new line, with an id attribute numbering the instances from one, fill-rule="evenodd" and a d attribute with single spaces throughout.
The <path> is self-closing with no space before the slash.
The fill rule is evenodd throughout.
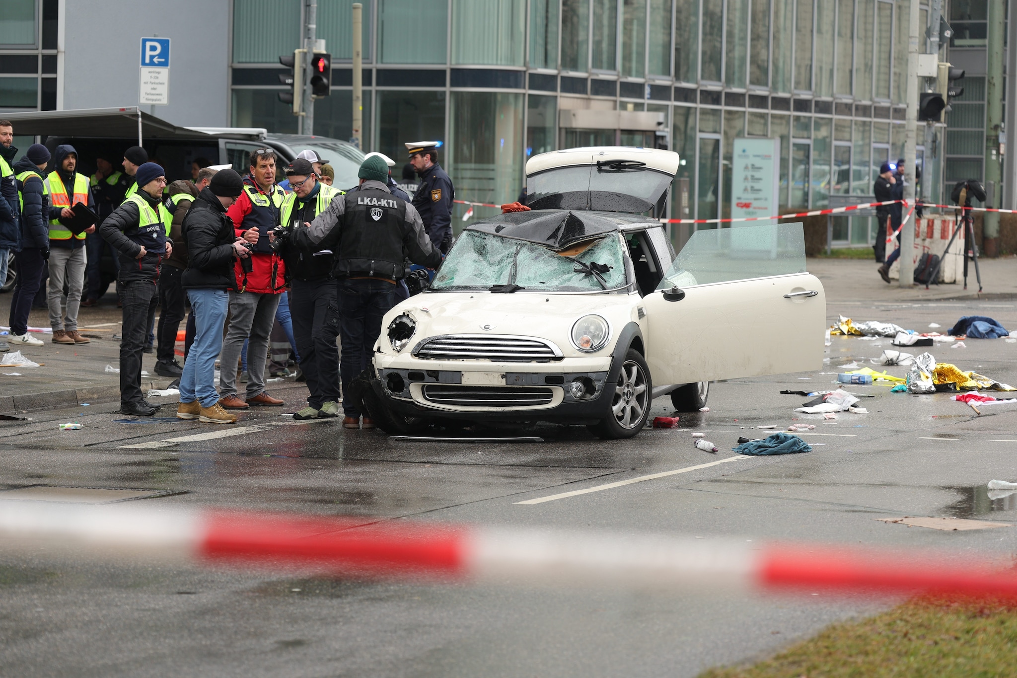
<path id="1" fill-rule="evenodd" d="M 187 298 L 191 302 L 195 332 L 180 377 L 180 402 L 199 400 L 202 408 L 211 408 L 219 400 L 216 359 L 223 349 L 223 325 L 230 308 L 230 295 L 226 290 L 187 290 Z"/>

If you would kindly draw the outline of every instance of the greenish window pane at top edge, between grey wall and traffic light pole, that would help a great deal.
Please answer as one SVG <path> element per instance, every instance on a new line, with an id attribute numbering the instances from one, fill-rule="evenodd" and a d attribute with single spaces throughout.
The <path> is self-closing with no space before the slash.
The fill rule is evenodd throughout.
<path id="1" fill-rule="evenodd" d="M 233 7 L 233 62 L 279 63 L 300 46 L 301 0 L 246 0 Z M 273 93 L 275 96 L 275 93 Z"/>

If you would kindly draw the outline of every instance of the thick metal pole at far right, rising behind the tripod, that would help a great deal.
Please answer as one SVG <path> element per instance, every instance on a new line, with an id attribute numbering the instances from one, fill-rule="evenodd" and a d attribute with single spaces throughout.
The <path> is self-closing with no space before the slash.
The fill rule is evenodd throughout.
<path id="1" fill-rule="evenodd" d="M 985 190 L 986 207 L 1000 205 L 1000 131 L 1003 124 L 1003 25 L 1005 0 L 989 0 L 989 59 L 985 77 Z M 999 256 L 1000 214 L 982 212 L 981 242 L 984 255 Z"/>

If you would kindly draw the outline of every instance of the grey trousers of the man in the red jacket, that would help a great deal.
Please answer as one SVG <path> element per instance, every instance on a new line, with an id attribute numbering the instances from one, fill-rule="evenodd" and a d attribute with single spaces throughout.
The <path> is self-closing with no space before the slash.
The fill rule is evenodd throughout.
<path id="1" fill-rule="evenodd" d="M 247 345 L 247 397 L 251 399 L 264 392 L 264 361 L 268 355 L 268 334 L 276 321 L 279 308 L 278 294 L 256 292 L 230 292 L 230 324 L 219 356 L 222 371 L 219 377 L 219 396 L 237 393 L 237 363 Z"/>

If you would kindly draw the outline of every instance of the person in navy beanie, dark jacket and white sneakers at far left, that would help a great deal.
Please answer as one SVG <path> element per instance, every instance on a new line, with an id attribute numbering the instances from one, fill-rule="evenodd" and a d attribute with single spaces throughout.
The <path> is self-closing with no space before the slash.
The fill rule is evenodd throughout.
<path id="1" fill-rule="evenodd" d="M 41 143 L 28 146 L 27 152 L 14 163 L 21 212 L 21 249 L 14 255 L 17 282 L 10 300 L 10 336 L 14 346 L 43 346 L 28 332 L 32 300 L 43 283 L 43 270 L 50 256 L 50 231 L 47 228 L 48 196 L 43 179 L 50 162 L 49 149 Z"/>

